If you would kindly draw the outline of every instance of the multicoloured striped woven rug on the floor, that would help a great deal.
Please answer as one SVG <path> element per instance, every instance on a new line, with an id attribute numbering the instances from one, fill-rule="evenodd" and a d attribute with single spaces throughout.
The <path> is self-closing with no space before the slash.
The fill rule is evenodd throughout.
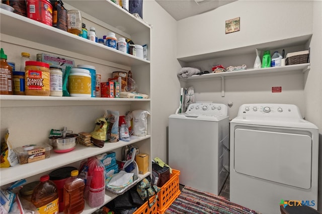
<path id="1" fill-rule="evenodd" d="M 254 214 L 249 208 L 232 203 L 227 198 L 209 192 L 201 192 L 185 186 L 178 198 L 165 212 L 166 214 Z"/>

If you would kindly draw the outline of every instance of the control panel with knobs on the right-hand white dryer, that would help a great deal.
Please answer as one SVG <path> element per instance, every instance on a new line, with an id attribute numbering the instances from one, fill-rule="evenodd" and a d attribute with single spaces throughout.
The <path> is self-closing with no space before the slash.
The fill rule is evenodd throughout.
<path id="1" fill-rule="evenodd" d="M 238 116 L 267 116 L 302 118 L 300 110 L 293 104 L 254 103 L 240 105 Z"/>

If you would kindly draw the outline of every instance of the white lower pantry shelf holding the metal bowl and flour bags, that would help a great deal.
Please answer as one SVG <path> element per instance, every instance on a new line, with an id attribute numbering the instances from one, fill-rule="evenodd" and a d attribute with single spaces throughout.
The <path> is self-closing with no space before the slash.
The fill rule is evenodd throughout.
<path id="1" fill-rule="evenodd" d="M 0 185 L 6 185 L 11 182 L 15 182 L 26 177 L 31 177 L 45 171 L 54 170 L 56 168 L 84 160 L 86 158 L 102 154 L 104 152 L 112 151 L 123 146 L 137 143 L 139 141 L 149 139 L 151 136 L 147 135 L 145 137 L 137 137 L 137 139 L 126 142 L 119 141 L 116 143 L 107 142 L 104 144 L 103 148 L 96 146 L 85 147 L 78 144 L 76 148 L 67 153 L 55 153 L 50 152 L 50 157 L 44 160 L 36 161 L 27 164 L 18 164 L 9 168 L 0 168 Z"/>

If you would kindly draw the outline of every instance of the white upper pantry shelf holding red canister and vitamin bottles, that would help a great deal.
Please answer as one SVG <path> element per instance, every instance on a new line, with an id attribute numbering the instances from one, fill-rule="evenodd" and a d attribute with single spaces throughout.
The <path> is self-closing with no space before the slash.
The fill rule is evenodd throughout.
<path id="1" fill-rule="evenodd" d="M 15 37 L 46 46 L 56 47 L 60 50 L 74 52 L 86 56 L 90 55 L 93 58 L 110 61 L 125 66 L 148 65 L 150 63 L 148 60 L 123 53 L 119 50 L 95 43 L 88 39 L 73 35 L 3 9 L 0 9 L 0 20 L 0 32 L 2 32 L 1 40 L 5 42 L 12 43 L 13 40 L 11 37 Z M 146 26 L 145 28 L 149 29 Z M 6 29 L 6 31 L 3 31 L 3 29 Z"/>

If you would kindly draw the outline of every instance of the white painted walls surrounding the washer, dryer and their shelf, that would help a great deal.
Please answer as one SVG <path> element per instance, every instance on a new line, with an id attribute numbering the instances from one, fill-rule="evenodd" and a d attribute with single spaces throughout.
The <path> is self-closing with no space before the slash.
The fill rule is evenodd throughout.
<path id="1" fill-rule="evenodd" d="M 176 23 L 154 1 L 145 1 L 144 20 L 152 29 L 152 154 L 166 157 L 168 117 L 177 108 L 181 86 L 176 73 L 181 66 L 176 58 L 256 45 L 267 41 L 313 33 L 311 66 L 305 74 L 287 73 L 233 77 L 226 80 L 226 94 L 221 97 L 220 79 L 193 83 L 196 99 L 228 103 L 234 118 L 240 104 L 251 102 L 292 103 L 299 106 L 306 120 L 322 130 L 322 2 L 321 1 L 243 1 L 222 6 L 205 14 Z M 156 16 L 156 14 L 158 14 Z M 225 35 L 224 21 L 240 17 L 240 31 Z M 174 39 L 172 36 L 177 36 Z M 177 54 L 175 53 L 177 48 Z M 299 47 L 307 48 L 307 47 Z M 253 55 L 253 57 L 255 54 Z M 248 64 L 254 63 L 250 56 Z M 221 60 L 207 60 L 199 66 L 211 66 Z M 240 63 L 239 61 L 236 62 Z M 197 63 L 197 62 L 196 62 Z M 225 62 L 226 64 L 228 62 Z M 165 85 L 165 86 L 163 86 Z M 282 93 L 272 93 L 272 86 L 282 86 Z M 157 96 L 157 97 L 155 97 Z M 320 134 L 319 141 L 322 143 Z M 322 146 L 319 147 L 322 154 Z M 321 156 L 321 155 L 320 155 Z M 319 210 L 322 210 L 322 161 L 319 164 Z"/>

